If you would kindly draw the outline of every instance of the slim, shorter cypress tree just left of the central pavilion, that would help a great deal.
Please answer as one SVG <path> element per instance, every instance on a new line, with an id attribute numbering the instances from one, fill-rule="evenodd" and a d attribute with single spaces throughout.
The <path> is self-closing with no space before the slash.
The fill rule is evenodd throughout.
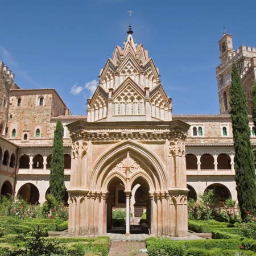
<path id="1" fill-rule="evenodd" d="M 49 187 L 51 195 L 53 195 L 57 201 L 62 202 L 64 200 L 65 185 L 63 126 L 60 121 L 57 121 L 54 131 Z"/>

